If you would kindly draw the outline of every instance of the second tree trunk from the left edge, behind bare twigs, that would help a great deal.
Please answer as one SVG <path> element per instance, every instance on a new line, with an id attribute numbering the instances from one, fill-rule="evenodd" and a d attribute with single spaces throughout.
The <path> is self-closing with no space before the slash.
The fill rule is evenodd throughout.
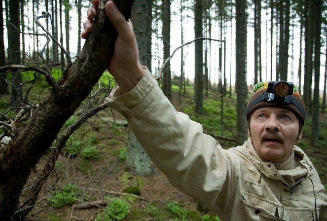
<path id="1" fill-rule="evenodd" d="M 20 64 L 20 16 L 19 16 L 19 1 L 9 0 L 9 21 L 8 33 L 10 33 L 10 48 L 9 48 L 9 63 Z M 20 83 L 22 81 L 21 72 L 19 69 L 12 71 L 12 88 L 11 88 L 11 105 L 19 107 L 20 101 Z"/>

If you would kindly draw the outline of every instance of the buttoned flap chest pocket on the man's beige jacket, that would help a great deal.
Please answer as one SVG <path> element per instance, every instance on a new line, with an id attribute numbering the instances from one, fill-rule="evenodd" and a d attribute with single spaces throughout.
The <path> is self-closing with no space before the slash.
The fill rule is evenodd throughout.
<path id="1" fill-rule="evenodd" d="M 242 204 L 246 220 L 249 221 L 290 221 L 279 203 L 242 191 Z M 280 218 L 283 217 L 283 218 Z"/>

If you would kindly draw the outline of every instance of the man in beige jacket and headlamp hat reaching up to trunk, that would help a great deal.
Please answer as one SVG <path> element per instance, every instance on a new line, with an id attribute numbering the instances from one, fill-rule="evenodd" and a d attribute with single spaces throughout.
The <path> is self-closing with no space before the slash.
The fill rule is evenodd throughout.
<path id="1" fill-rule="evenodd" d="M 98 0 L 82 37 L 92 30 Z M 106 12 L 117 29 L 108 70 L 117 82 L 106 103 L 128 120 L 142 147 L 183 193 L 227 221 L 327 221 L 327 196 L 302 136 L 304 103 L 287 82 L 257 85 L 247 112 L 249 139 L 222 149 L 202 125 L 174 109 L 138 60 L 131 23 L 112 0 Z"/>

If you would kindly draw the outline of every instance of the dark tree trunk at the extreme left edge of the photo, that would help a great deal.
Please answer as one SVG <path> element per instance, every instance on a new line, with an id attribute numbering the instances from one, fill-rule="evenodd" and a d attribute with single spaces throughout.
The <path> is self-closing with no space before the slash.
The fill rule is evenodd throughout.
<path id="1" fill-rule="evenodd" d="M 5 53 L 4 53 L 4 33 L 3 33 L 3 2 L 0 2 L 0 66 L 5 65 Z M 8 94 L 8 85 L 6 83 L 6 72 L 0 72 L 0 95 Z"/>

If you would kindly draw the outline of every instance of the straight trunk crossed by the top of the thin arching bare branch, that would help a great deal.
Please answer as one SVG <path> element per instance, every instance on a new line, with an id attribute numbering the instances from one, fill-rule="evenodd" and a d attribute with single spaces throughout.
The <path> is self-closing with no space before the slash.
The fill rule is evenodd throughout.
<path id="1" fill-rule="evenodd" d="M 195 0 L 194 5 L 194 37 L 202 37 L 202 0 Z M 203 113 L 203 42 L 198 40 L 194 43 L 195 48 L 195 76 L 194 76 L 194 100 L 195 112 Z"/>

